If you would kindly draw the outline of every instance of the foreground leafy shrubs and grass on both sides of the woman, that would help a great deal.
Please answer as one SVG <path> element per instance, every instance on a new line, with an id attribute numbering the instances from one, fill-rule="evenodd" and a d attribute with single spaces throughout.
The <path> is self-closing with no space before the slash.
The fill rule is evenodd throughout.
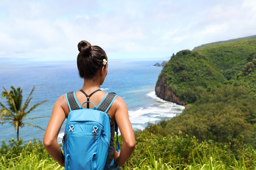
<path id="1" fill-rule="evenodd" d="M 149 125 L 150 126 L 150 125 Z M 122 145 L 122 137 L 119 136 Z M 253 169 L 256 150 L 243 144 L 241 137 L 231 150 L 224 145 L 186 135 L 156 136 L 136 133 L 136 148 L 121 169 Z M 0 169 L 64 169 L 52 159 L 41 141 L 22 145 L 10 139 L 0 147 Z"/>

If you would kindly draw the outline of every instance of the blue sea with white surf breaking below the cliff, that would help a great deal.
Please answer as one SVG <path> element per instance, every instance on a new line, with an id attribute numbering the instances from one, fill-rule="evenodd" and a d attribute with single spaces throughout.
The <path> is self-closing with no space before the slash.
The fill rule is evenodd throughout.
<path id="1" fill-rule="evenodd" d="M 133 129 L 143 129 L 147 122 L 156 122 L 161 119 L 170 119 L 184 109 L 183 106 L 164 101 L 155 95 L 155 84 L 162 67 L 152 66 L 163 60 L 109 60 L 108 75 L 101 86 L 101 90 L 115 92 L 121 96 L 128 108 Z M 23 102 L 35 86 L 30 107 L 35 103 L 49 100 L 38 106 L 27 117 L 50 116 L 52 107 L 59 96 L 77 91 L 83 86 L 83 79 L 79 78 L 76 61 L 55 62 L 0 62 L 0 89 L 10 86 L 23 89 Z M 3 91 L 4 89 L 2 88 Z M 5 106 L 6 100 L 0 99 Z M 46 129 L 49 118 L 27 120 Z M 2 122 L 2 121 L 0 121 Z M 63 123 L 58 140 L 61 141 L 65 123 Z M 14 127 L 5 123 L 0 126 L 0 139 L 16 139 Z M 44 131 L 25 124 L 19 129 L 19 137 L 24 142 L 33 138 L 42 140 Z"/>

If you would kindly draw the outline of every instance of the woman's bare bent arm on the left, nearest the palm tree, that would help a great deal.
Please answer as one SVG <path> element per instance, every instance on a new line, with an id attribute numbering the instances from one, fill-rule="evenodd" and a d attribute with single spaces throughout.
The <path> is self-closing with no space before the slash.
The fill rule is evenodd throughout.
<path id="1" fill-rule="evenodd" d="M 64 155 L 60 149 L 59 143 L 57 142 L 57 137 L 61 128 L 62 123 L 64 122 L 66 115 L 61 106 L 63 102 L 66 101 L 65 95 L 62 95 L 55 102 L 52 109 L 52 115 L 48 126 L 45 131 L 44 136 L 44 145 L 49 154 L 56 159 L 61 166 L 64 166 Z"/>

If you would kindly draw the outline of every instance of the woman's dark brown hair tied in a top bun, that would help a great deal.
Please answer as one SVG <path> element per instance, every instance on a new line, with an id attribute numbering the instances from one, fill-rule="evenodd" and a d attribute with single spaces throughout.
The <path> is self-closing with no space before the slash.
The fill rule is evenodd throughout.
<path id="1" fill-rule="evenodd" d="M 97 45 L 91 46 L 87 41 L 80 41 L 77 45 L 79 54 L 77 56 L 77 68 L 79 75 L 84 79 L 93 80 L 96 72 L 102 67 L 103 59 L 108 61 L 105 51 Z"/>

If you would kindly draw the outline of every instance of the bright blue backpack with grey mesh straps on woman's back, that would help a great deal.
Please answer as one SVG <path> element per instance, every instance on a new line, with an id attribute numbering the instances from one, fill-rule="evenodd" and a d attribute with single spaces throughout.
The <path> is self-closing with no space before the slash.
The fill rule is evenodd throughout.
<path id="1" fill-rule="evenodd" d="M 83 108 L 84 103 L 80 106 L 75 92 L 66 93 L 70 112 L 62 139 L 65 169 L 102 170 L 109 169 L 114 164 L 113 158 L 111 164 L 108 165 L 110 116 L 106 112 L 118 95 L 107 93 L 96 107 L 89 101 L 92 94 L 85 94 L 87 101 L 84 103 L 88 103 L 88 108 Z M 94 105 L 93 109 L 89 109 L 89 102 Z M 117 124 L 115 132 L 118 136 Z M 119 152 L 118 137 L 116 137 L 116 147 Z M 118 169 L 118 166 L 114 169 Z"/>

